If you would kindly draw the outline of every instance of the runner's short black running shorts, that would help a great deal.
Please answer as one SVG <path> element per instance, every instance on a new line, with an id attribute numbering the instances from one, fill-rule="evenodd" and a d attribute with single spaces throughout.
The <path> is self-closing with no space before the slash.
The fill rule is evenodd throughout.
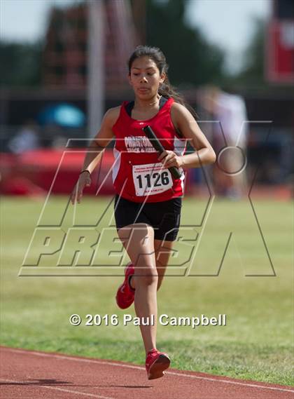
<path id="1" fill-rule="evenodd" d="M 114 215 L 116 229 L 134 223 L 153 227 L 156 240 L 175 241 L 181 221 L 182 198 L 153 203 L 137 203 L 116 195 Z"/>

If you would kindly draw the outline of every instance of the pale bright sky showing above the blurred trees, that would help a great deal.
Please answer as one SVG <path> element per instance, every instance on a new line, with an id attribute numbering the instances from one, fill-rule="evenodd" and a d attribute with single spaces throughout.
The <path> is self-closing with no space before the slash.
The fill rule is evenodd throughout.
<path id="1" fill-rule="evenodd" d="M 79 0 L 0 0 L 0 35 L 3 40 L 35 41 L 45 34 L 50 7 Z M 272 0 L 187 0 L 187 18 L 207 39 L 222 46 L 234 71 L 251 39 L 253 18 L 268 18 Z"/>

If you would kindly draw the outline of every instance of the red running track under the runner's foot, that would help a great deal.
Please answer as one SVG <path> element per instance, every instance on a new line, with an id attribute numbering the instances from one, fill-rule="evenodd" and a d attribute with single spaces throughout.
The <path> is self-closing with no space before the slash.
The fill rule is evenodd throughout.
<path id="1" fill-rule="evenodd" d="M 0 347 L 1 399 L 293 399 L 294 387 Z"/>

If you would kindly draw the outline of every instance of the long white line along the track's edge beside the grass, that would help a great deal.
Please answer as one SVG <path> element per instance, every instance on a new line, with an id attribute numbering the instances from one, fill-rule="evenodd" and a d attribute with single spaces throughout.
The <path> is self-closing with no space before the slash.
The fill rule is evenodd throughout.
<path id="1" fill-rule="evenodd" d="M 114 367 L 125 367 L 125 368 L 130 368 L 130 369 L 137 369 L 137 370 L 145 370 L 145 367 L 141 366 L 132 366 L 132 365 L 122 365 L 120 363 L 111 363 L 101 360 L 95 360 L 95 359 L 83 359 L 83 358 L 73 358 L 71 356 L 65 356 L 65 355 L 58 355 L 56 353 L 41 353 L 41 352 L 35 352 L 35 351 L 23 351 L 22 349 L 10 349 L 6 348 L 5 346 L 0 348 L 1 350 L 5 349 L 6 351 L 9 352 L 14 352 L 14 353 L 25 353 L 26 355 L 31 354 L 35 356 L 42 356 L 42 357 L 49 357 L 49 358 L 57 358 L 57 359 L 64 359 L 64 360 L 72 360 L 74 362 L 86 362 L 86 363 L 97 363 L 99 365 L 111 365 Z M 224 384 L 233 384 L 233 385 L 241 385 L 241 386 L 249 386 L 251 388 L 260 388 L 260 389 L 269 389 L 272 391 L 282 391 L 282 392 L 291 392 L 294 393 L 294 389 L 287 389 L 287 388 L 278 388 L 276 386 L 262 386 L 258 384 L 249 384 L 248 382 L 241 382 L 241 381 L 230 381 L 227 379 L 218 379 L 218 378 L 212 378 L 212 377 L 200 377 L 197 375 L 190 375 L 190 374 L 185 374 L 185 373 L 179 373 L 179 372 L 165 372 L 165 374 L 169 375 L 176 375 L 179 377 L 187 377 L 187 378 L 192 378 L 192 379 L 202 379 L 205 381 L 214 381 L 214 382 L 223 382 Z"/>

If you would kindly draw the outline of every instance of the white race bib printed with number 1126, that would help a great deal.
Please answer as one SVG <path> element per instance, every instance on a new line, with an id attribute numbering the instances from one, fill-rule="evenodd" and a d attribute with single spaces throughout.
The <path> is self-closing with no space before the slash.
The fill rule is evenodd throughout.
<path id="1" fill-rule="evenodd" d="M 133 180 L 137 196 L 153 196 L 172 188 L 172 175 L 162 163 L 133 165 Z"/>

